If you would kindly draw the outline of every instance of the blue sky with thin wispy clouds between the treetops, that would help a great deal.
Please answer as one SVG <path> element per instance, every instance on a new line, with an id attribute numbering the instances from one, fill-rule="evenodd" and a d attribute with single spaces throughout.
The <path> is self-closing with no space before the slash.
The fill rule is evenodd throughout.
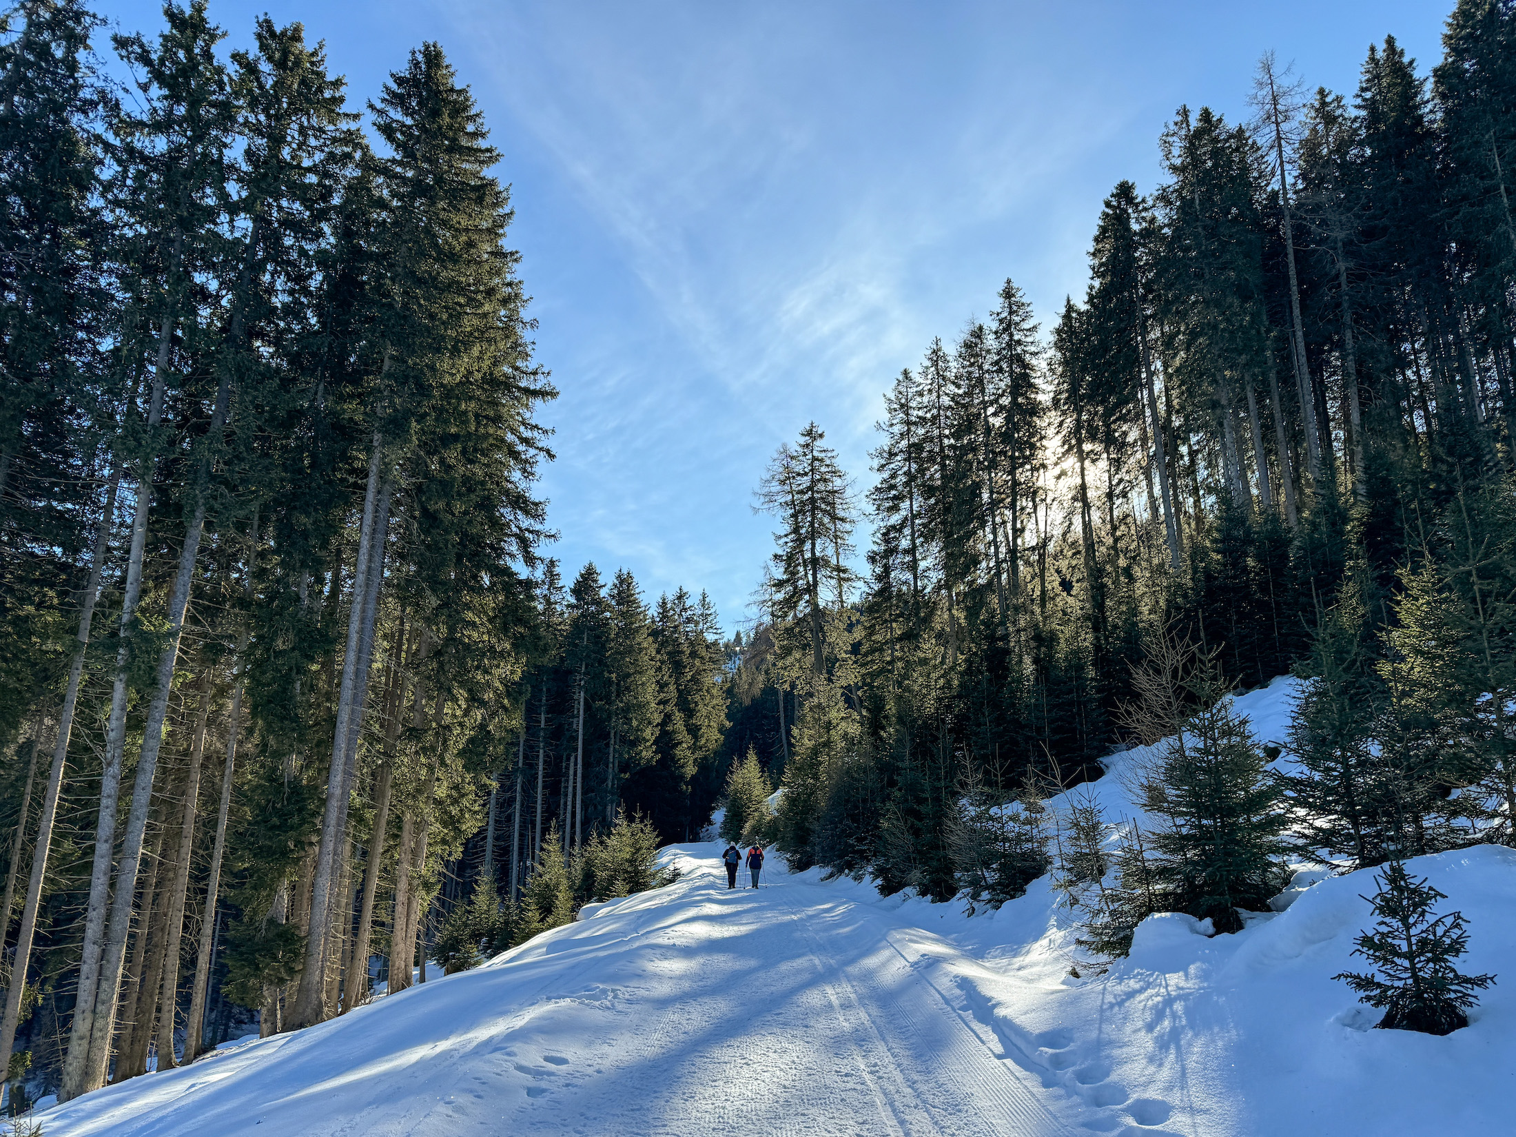
<path id="1" fill-rule="evenodd" d="M 752 491 L 816 420 L 860 488 L 881 394 L 1013 277 L 1079 296 L 1101 200 L 1158 177 L 1181 103 L 1246 115 L 1258 55 L 1351 92 L 1446 3 L 406 3 L 212 0 L 323 38 L 352 100 L 423 39 L 502 150 L 512 244 L 562 393 L 550 550 L 706 588 L 731 629 L 770 547 Z M 158 5 L 102 12 L 156 32 Z"/>

